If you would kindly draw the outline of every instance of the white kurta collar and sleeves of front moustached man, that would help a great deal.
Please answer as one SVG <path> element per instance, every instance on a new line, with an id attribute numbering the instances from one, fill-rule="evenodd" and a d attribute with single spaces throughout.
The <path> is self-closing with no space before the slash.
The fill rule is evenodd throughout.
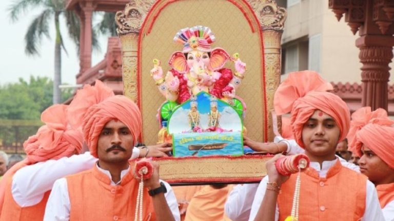
<path id="1" fill-rule="evenodd" d="M 103 170 L 98 166 L 97 168 L 99 168 L 100 171 L 102 171 L 111 179 L 111 174 L 109 171 Z M 121 181 L 119 181 L 119 183 L 115 184 L 111 179 L 111 185 L 119 185 L 122 182 L 123 176 L 126 175 L 129 169 L 130 167 L 121 172 Z M 176 201 L 174 191 L 167 182 L 161 182 L 163 182 L 167 188 L 167 192 L 164 193 L 164 196 L 166 197 L 166 201 L 172 212 L 172 215 L 176 221 L 180 221 L 181 215 L 179 213 L 178 202 Z M 49 195 L 48 203 L 45 208 L 44 221 L 68 221 L 70 220 L 70 208 L 71 203 L 70 197 L 68 195 L 67 180 L 66 178 L 56 180 L 56 182 L 53 184 L 52 192 Z"/>

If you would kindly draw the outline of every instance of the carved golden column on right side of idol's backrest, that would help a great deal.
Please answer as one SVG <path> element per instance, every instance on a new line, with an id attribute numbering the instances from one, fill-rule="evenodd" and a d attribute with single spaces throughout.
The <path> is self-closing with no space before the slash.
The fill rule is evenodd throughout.
<path id="1" fill-rule="evenodd" d="M 280 84 L 278 79 L 281 78 L 281 39 L 287 11 L 278 7 L 272 0 L 248 0 L 248 2 L 260 20 L 263 32 L 265 73 L 273 73 L 266 76 L 266 90 L 272 92 L 268 93 L 272 96 L 267 97 L 267 103 L 273 104 L 273 94 Z M 268 113 L 272 112 L 273 106 L 269 105 Z M 271 114 L 268 115 L 268 121 L 272 122 Z M 278 125 L 278 128 L 269 128 L 268 137 L 275 137 L 274 133 L 281 131 L 281 118 L 279 117 L 278 122 L 273 122 L 272 125 L 273 127 Z"/>

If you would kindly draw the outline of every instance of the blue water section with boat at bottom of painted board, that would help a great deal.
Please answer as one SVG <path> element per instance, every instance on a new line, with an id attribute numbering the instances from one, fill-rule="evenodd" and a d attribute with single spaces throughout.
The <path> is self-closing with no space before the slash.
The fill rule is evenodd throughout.
<path id="1" fill-rule="evenodd" d="M 173 156 L 241 156 L 244 153 L 242 132 L 192 132 L 173 134 Z"/>

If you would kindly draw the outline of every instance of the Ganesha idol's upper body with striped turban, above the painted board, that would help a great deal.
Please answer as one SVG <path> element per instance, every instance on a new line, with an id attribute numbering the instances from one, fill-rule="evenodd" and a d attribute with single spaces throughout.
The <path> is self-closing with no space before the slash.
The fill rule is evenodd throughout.
<path id="1" fill-rule="evenodd" d="M 238 54 L 230 58 L 222 48 L 211 49 L 215 36 L 208 27 L 182 29 L 173 40 L 182 43 L 183 50 L 171 55 L 168 62 L 171 70 L 164 76 L 157 60 L 151 70 L 157 88 L 166 99 L 181 104 L 204 91 L 231 102 L 245 73 L 245 63 Z M 234 62 L 234 73 L 223 68 L 229 59 Z"/>

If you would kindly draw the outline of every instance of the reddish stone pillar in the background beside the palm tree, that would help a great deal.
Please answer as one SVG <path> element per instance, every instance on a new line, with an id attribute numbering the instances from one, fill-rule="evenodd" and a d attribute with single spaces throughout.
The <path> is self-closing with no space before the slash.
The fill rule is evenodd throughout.
<path id="1" fill-rule="evenodd" d="M 81 34 L 80 42 L 83 42 L 83 48 L 80 50 L 81 58 L 81 71 L 84 71 L 92 67 L 92 14 L 95 5 L 91 1 L 80 3 L 81 7 Z M 83 22 L 83 23 L 82 23 Z M 82 53 L 81 53 L 82 52 Z"/>

